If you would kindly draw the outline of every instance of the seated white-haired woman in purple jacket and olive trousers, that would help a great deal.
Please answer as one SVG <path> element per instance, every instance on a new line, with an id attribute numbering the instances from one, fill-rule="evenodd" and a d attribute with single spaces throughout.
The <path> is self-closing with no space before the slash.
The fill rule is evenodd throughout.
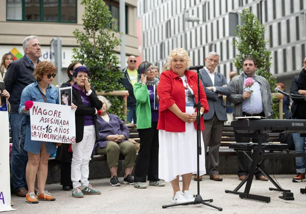
<path id="1" fill-rule="evenodd" d="M 121 186 L 117 176 L 119 154 L 125 156 L 123 183 L 134 184 L 131 173 L 136 160 L 136 147 L 128 141 L 129 128 L 118 116 L 106 112 L 110 108 L 110 102 L 105 97 L 98 96 L 98 98 L 103 102 L 103 106 L 98 111 L 99 138 L 96 139 L 93 153 L 107 156 L 111 174 L 110 185 L 112 186 Z"/>

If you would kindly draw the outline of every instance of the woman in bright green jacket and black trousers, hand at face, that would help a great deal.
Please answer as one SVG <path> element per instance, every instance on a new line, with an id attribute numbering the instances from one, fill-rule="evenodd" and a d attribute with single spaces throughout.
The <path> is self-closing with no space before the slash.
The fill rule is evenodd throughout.
<path id="1" fill-rule="evenodd" d="M 140 137 L 140 150 L 135 164 L 134 187 L 165 186 L 158 178 L 158 110 L 155 108 L 156 86 L 159 79 L 154 77 L 155 69 L 150 62 L 142 62 L 138 67 L 141 79 L 134 85 L 136 98 L 137 130 Z M 158 98 L 158 96 L 156 96 Z"/>

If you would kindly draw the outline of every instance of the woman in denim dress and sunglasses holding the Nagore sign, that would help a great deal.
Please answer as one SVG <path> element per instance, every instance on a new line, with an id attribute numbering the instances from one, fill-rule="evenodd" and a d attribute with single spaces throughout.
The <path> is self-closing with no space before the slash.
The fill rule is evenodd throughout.
<path id="1" fill-rule="evenodd" d="M 28 194 L 25 200 L 28 203 L 37 204 L 38 200 L 55 201 L 55 197 L 51 196 L 45 190 L 45 184 L 48 175 L 48 160 L 51 153 L 54 153 L 56 146 L 61 143 L 44 142 L 31 140 L 31 121 L 29 110 L 34 102 L 46 102 L 59 104 L 58 90 L 52 85 L 55 77 L 56 67 L 50 61 L 42 61 L 35 67 L 34 83 L 24 88 L 21 93 L 19 113 L 25 116 L 25 141 L 24 150 L 28 152 L 28 164 L 26 167 L 26 180 L 28 185 Z M 75 105 L 71 109 L 76 108 Z M 34 183 L 37 174 L 38 192 L 34 193 Z M 38 200 L 37 200 L 38 199 Z"/>

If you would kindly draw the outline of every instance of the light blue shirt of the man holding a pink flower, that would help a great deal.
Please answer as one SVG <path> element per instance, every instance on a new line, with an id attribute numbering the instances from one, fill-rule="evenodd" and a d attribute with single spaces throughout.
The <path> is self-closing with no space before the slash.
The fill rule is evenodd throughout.
<path id="1" fill-rule="evenodd" d="M 255 75 L 252 77 L 254 79 Z M 248 78 L 245 74 L 243 74 L 243 87 L 244 82 Z M 246 98 L 242 101 L 242 112 L 248 113 L 248 114 L 259 114 L 263 112 L 263 101 L 261 98 L 261 91 L 260 91 L 260 84 L 256 81 L 254 81 L 253 86 L 250 88 L 244 88 L 243 93 L 245 91 L 253 90 L 252 95 L 250 98 Z"/>

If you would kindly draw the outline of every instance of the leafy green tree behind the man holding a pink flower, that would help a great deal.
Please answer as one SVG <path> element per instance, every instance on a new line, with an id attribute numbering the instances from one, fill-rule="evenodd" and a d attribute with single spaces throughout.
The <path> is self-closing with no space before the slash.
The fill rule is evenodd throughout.
<path id="1" fill-rule="evenodd" d="M 271 68 L 271 51 L 268 51 L 266 46 L 270 40 L 265 41 L 264 35 L 266 26 L 260 24 L 254 13 L 248 8 L 244 9 L 241 13 L 242 26 L 237 26 L 237 37 L 239 40 L 234 39 L 233 45 L 239 51 L 236 59 L 234 60 L 235 67 L 241 71 L 243 60 L 246 57 L 253 57 L 257 64 L 256 74 L 266 78 L 270 84 L 271 92 L 274 92 L 274 88 L 277 85 L 276 77 L 273 77 L 269 72 Z M 272 118 L 278 119 L 278 103 L 279 99 L 272 98 Z"/>

